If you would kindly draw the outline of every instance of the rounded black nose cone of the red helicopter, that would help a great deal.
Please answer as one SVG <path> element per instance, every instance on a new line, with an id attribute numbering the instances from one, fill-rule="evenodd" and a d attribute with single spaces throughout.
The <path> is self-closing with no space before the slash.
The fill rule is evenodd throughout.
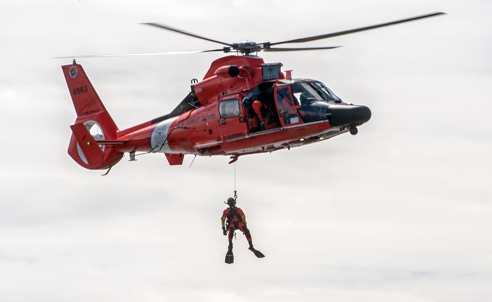
<path id="1" fill-rule="evenodd" d="M 369 107 L 362 105 L 337 104 L 327 110 L 328 121 L 332 127 L 361 125 L 369 121 Z"/>

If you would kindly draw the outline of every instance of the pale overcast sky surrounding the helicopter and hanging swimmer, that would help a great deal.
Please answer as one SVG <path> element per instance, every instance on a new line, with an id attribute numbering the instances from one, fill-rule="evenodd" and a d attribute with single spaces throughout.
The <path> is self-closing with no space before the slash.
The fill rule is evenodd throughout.
<path id="1" fill-rule="evenodd" d="M 128 156 L 109 175 L 67 154 L 60 56 L 284 41 L 447 15 L 260 53 L 320 80 L 369 122 L 287 151 Z M 0 7 L 0 300 L 458 302 L 492 297 L 492 2 L 96 1 Z M 219 53 L 77 59 L 120 129 L 169 113 Z M 238 192 L 254 246 L 224 256 Z"/>

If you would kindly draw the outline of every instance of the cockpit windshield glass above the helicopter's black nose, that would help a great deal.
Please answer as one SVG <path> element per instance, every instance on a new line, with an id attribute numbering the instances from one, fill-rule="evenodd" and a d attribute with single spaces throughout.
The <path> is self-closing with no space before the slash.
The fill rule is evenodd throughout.
<path id="1" fill-rule="evenodd" d="M 340 98 L 321 82 L 296 82 L 292 84 L 292 94 L 296 105 L 301 106 L 318 101 L 341 102 Z"/>

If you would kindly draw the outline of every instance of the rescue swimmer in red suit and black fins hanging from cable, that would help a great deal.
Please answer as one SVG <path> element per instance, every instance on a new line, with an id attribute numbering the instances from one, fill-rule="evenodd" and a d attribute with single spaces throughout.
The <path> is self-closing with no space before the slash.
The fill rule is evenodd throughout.
<path id="1" fill-rule="evenodd" d="M 246 227 L 246 215 L 243 210 L 236 207 L 236 200 L 230 197 L 225 203 L 229 206 L 229 208 L 224 210 L 221 218 L 222 231 L 224 233 L 224 236 L 227 236 L 227 233 L 229 233 L 229 247 L 227 250 L 227 254 L 225 255 L 225 263 L 234 263 L 234 254 L 232 253 L 232 238 L 234 237 L 235 231 L 237 229 L 241 230 L 241 232 L 245 234 L 246 240 L 249 243 L 248 249 L 252 251 L 254 255 L 258 258 L 265 257 L 265 255 L 263 255 L 260 251 L 256 250 L 253 247 L 251 234 Z"/>

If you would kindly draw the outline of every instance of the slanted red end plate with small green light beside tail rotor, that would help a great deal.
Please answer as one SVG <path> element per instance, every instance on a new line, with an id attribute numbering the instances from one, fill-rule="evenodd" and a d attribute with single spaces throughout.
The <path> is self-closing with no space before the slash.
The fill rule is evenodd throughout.
<path id="1" fill-rule="evenodd" d="M 90 166 L 101 165 L 104 159 L 104 151 L 92 137 L 89 130 L 84 126 L 83 123 L 76 123 L 71 125 L 73 136 L 78 143 L 79 152 L 82 151 L 85 161 Z"/>

